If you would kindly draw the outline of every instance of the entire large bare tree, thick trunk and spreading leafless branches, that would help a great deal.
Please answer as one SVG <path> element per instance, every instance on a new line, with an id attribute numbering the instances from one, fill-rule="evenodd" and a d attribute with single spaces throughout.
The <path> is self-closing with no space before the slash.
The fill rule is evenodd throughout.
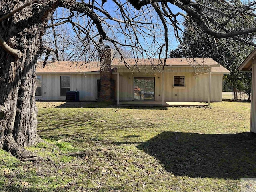
<path id="1" fill-rule="evenodd" d="M 168 56 L 170 32 L 180 40 L 180 17 L 192 20 L 216 39 L 232 37 L 256 46 L 246 34 L 256 32 L 255 19 L 241 29 L 227 28 L 234 20 L 255 18 L 256 1 L 239 4 L 231 0 L 213 0 L 215 6 L 200 0 L 1 0 L 0 1 L 0 148 L 20 159 L 36 159 L 23 147 L 40 140 L 36 133 L 35 90 L 36 60 L 53 52 L 60 59 L 58 45 L 68 32 L 72 60 L 96 60 L 102 46 L 111 45 L 126 63 L 122 50 L 134 58 Z M 183 10 L 175 12 L 173 6 Z M 223 12 L 222 10 L 225 10 Z M 55 14 L 54 14 L 55 12 Z M 223 17 L 221 22 L 208 15 Z M 44 34 L 51 42 L 44 44 Z M 66 36 L 67 37 L 67 36 Z M 69 49 L 63 47 L 64 49 Z M 71 49 L 72 48 L 72 49 Z M 64 58 L 64 52 L 62 57 Z M 62 58 L 62 59 L 63 59 Z M 47 59 L 46 59 L 47 60 Z M 127 64 L 128 65 L 128 64 Z"/>

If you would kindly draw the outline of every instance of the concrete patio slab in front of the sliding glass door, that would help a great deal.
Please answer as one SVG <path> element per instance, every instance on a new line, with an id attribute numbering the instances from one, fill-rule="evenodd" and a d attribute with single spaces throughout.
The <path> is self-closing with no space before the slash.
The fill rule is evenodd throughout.
<path id="1" fill-rule="evenodd" d="M 207 106 L 204 102 L 178 102 L 178 101 L 121 101 L 120 106 L 163 106 L 163 107 L 177 107 L 177 106 Z"/>

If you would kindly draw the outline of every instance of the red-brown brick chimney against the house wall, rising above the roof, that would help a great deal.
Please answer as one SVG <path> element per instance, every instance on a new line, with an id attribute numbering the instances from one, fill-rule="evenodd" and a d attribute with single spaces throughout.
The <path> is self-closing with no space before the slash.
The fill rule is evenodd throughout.
<path id="1" fill-rule="evenodd" d="M 115 80 L 112 79 L 112 49 L 105 46 L 100 52 L 100 81 L 98 101 L 115 101 Z"/>

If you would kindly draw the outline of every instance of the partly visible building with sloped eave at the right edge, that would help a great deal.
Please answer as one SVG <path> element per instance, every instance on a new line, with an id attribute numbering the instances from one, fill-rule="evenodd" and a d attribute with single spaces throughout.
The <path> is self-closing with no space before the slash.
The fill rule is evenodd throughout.
<path id="1" fill-rule="evenodd" d="M 252 72 L 250 131 L 256 133 L 256 49 L 254 49 L 244 60 L 244 62 L 238 67 L 238 70 Z"/>

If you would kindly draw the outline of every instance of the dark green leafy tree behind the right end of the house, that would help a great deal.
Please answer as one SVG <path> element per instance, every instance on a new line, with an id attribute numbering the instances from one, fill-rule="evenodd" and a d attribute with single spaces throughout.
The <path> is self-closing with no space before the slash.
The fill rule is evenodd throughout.
<path id="1" fill-rule="evenodd" d="M 210 13 L 209 13 L 210 14 Z M 216 18 L 221 20 L 221 18 Z M 251 17 L 248 17 L 250 22 Z M 234 23 L 239 28 L 239 24 Z M 234 27 L 234 26 L 233 26 Z M 253 39 L 253 36 L 244 38 Z M 232 88 L 234 99 L 237 99 L 238 84 L 242 83 L 243 90 L 246 91 L 250 99 L 251 82 L 250 72 L 239 72 L 238 66 L 253 50 L 252 46 L 236 41 L 233 38 L 216 39 L 205 34 L 191 20 L 184 22 L 184 31 L 182 33 L 182 44 L 170 52 L 171 58 L 212 58 L 222 66 L 230 70 L 230 74 L 224 76 L 225 87 Z M 241 90 L 242 91 L 242 90 Z"/>

